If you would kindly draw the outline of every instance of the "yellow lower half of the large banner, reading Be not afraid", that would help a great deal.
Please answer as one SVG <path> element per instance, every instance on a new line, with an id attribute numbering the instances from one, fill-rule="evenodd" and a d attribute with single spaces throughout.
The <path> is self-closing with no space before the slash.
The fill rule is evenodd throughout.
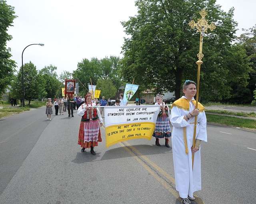
<path id="1" fill-rule="evenodd" d="M 130 123 L 106 127 L 106 148 L 118 142 L 144 138 L 151 140 L 156 124 L 152 122 Z"/>

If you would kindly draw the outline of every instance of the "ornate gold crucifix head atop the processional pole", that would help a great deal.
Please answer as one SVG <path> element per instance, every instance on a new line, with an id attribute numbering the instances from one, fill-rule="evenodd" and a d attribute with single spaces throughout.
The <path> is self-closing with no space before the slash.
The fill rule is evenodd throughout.
<path id="1" fill-rule="evenodd" d="M 191 28 L 194 28 L 196 26 L 198 32 L 200 32 L 200 47 L 199 47 L 199 53 L 197 54 L 197 57 L 199 59 L 199 61 L 202 60 L 202 58 L 204 57 L 204 54 L 202 53 L 202 49 L 203 49 L 203 39 L 204 39 L 204 35 L 205 33 L 207 33 L 207 29 L 210 28 L 211 31 L 213 31 L 216 26 L 214 26 L 213 23 L 211 23 L 210 25 L 208 25 L 208 20 L 205 20 L 205 16 L 207 15 L 206 11 L 203 9 L 200 12 L 200 15 L 202 16 L 201 19 L 197 19 L 198 22 L 194 22 L 194 20 L 192 20 L 188 25 Z"/>

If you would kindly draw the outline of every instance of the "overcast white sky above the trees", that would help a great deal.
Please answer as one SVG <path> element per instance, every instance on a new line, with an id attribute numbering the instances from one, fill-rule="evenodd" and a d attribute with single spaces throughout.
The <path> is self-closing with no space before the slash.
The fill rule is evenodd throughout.
<path id="1" fill-rule="evenodd" d="M 23 63 L 31 61 L 38 70 L 56 66 L 57 74 L 63 71 L 72 73 L 82 59 L 110 55 L 122 57 L 124 28 L 121 21 L 135 16 L 137 8 L 134 0 L 7 0 L 14 6 L 13 27 L 8 34 L 13 39 L 7 43 L 17 63 L 17 70 Z M 237 35 L 242 28 L 256 24 L 256 0 L 217 0 L 222 10 L 235 8 L 234 20 L 238 22 Z M 207 18 L 207 17 L 206 17 Z"/>

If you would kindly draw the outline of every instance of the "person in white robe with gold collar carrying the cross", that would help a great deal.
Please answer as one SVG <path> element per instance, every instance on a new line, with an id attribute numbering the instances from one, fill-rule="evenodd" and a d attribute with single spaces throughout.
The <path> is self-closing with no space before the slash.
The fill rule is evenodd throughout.
<path id="1" fill-rule="evenodd" d="M 176 190 L 182 204 L 194 200 L 193 193 L 201 190 L 201 155 L 200 143 L 207 141 L 205 108 L 198 102 L 196 109 L 196 83 L 186 80 L 183 84 L 185 96 L 176 100 L 171 108 L 172 152 Z M 199 114 L 200 113 L 200 114 Z M 194 122 L 196 122 L 196 145 L 193 149 Z M 192 154 L 194 164 L 192 169 Z"/>

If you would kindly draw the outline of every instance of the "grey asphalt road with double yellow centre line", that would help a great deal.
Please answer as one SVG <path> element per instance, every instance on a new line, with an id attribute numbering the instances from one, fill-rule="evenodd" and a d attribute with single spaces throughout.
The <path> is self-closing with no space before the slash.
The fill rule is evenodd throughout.
<path id="1" fill-rule="evenodd" d="M 180 204 L 172 148 L 134 139 L 96 156 L 77 145 L 80 116 L 45 108 L 0 120 L 0 204 Z M 202 143 L 202 190 L 192 204 L 255 203 L 256 132 L 207 125 Z"/>

